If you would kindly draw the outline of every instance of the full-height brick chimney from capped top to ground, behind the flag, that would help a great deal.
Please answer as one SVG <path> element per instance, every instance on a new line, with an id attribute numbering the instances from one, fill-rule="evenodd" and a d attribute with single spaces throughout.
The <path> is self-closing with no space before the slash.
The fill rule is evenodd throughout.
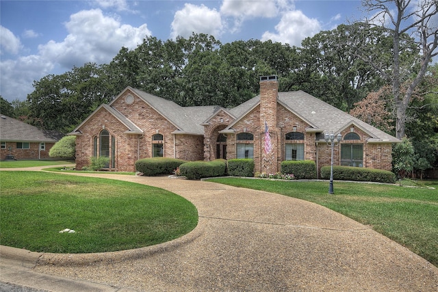
<path id="1" fill-rule="evenodd" d="M 277 98 L 279 96 L 279 82 L 277 77 L 260 77 L 260 129 L 261 147 L 260 159 L 255 159 L 255 170 L 274 174 L 279 172 L 279 134 L 276 125 Z M 266 128 L 267 126 L 267 128 Z M 268 129 L 268 133 L 266 132 Z M 268 139 L 268 142 L 267 142 Z"/>

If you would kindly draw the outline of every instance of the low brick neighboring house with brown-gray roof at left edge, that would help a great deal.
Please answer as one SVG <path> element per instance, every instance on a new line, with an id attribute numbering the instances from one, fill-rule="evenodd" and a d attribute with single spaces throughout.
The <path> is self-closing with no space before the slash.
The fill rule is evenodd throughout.
<path id="1" fill-rule="evenodd" d="M 0 159 L 48 159 L 50 148 L 61 137 L 59 133 L 40 130 L 25 122 L 1 115 Z"/>

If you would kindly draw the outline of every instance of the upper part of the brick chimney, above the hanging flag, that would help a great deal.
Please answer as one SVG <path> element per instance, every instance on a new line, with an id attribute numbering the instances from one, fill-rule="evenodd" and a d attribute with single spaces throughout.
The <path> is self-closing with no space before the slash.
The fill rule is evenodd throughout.
<path id="1" fill-rule="evenodd" d="M 279 96 L 279 82 L 276 75 L 260 77 L 260 122 L 276 127 L 276 103 Z"/>

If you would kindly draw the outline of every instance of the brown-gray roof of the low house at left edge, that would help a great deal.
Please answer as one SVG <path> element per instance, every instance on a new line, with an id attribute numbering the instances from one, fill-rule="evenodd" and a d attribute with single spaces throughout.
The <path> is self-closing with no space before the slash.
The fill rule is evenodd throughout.
<path id="1" fill-rule="evenodd" d="M 1 142 L 44 142 L 55 143 L 62 138 L 62 133 L 40 130 L 14 118 L 1 115 Z"/>

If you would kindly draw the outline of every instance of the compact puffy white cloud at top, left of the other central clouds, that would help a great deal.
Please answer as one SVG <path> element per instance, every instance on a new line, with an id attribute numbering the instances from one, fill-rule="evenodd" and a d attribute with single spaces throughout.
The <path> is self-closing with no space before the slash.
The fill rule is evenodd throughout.
<path id="1" fill-rule="evenodd" d="M 216 9 L 209 9 L 203 4 L 198 6 L 189 3 L 175 13 L 171 27 L 170 37 L 174 39 L 177 36 L 187 38 L 193 32 L 218 38 L 223 29 L 220 13 Z"/>

